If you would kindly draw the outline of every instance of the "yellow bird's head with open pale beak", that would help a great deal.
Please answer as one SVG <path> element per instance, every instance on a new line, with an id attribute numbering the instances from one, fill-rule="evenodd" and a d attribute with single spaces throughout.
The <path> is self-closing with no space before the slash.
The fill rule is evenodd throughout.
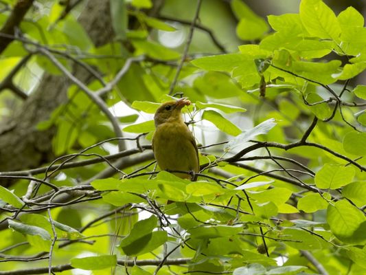
<path id="1" fill-rule="evenodd" d="M 187 98 L 180 98 L 179 100 L 172 100 L 164 102 L 157 109 L 154 115 L 155 126 L 163 124 L 165 122 L 182 121 L 181 109 L 187 105 L 190 105 L 190 100 Z"/>

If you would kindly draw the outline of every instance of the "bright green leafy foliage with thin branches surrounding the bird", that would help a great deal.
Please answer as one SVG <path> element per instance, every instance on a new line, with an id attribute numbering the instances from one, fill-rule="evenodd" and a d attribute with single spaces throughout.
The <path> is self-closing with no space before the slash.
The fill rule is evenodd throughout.
<path id="1" fill-rule="evenodd" d="M 34 123 L 53 131 L 52 157 L 0 173 L 0 274 L 366 273 L 360 12 L 301 0 L 264 19 L 213 1 L 236 17 L 220 11 L 220 28 L 205 25 L 220 14 L 209 1 L 181 18 L 182 1 L 111 0 L 115 36 L 97 45 L 77 20 L 87 4 L 71 2 L 39 1 L 0 33 L 4 122 L 41 78 L 67 87 Z M 6 25 L 18 3 L 0 5 Z M 152 113 L 180 96 L 201 145 L 193 182 L 159 171 L 150 146 Z"/>

